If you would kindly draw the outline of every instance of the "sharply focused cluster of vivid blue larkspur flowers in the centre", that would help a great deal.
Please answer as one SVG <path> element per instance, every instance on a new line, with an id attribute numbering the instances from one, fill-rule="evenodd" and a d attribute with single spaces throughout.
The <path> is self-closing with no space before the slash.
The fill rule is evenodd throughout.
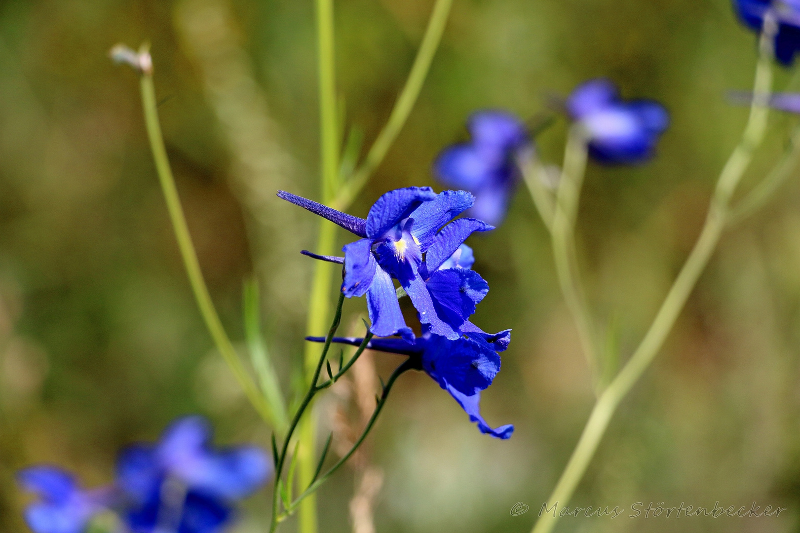
<path id="1" fill-rule="evenodd" d="M 430 187 L 390 190 L 366 219 L 284 191 L 278 196 L 361 237 L 342 248 L 343 258 L 310 255 L 343 263 L 342 292 L 348 298 L 366 295 L 370 331 L 400 337 L 374 339 L 371 346 L 418 357 L 418 367 L 453 395 L 480 431 L 508 439 L 514 427 L 493 429 L 478 409 L 480 391 L 500 370 L 497 352 L 508 346 L 510 330 L 490 335 L 469 320 L 489 285 L 472 270 L 474 255 L 464 241 L 475 231 L 494 229 L 476 218 L 454 220 L 474 206 L 473 195 L 464 190 L 435 194 Z M 420 338 L 403 319 L 394 279 L 418 312 Z"/>

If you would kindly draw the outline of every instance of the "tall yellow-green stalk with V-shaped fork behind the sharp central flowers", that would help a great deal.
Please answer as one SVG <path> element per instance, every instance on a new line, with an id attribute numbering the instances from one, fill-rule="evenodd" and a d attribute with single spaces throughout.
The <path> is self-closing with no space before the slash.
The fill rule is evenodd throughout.
<path id="1" fill-rule="evenodd" d="M 318 75 L 320 104 L 320 157 L 322 166 L 322 202 L 344 210 L 354 201 L 372 172 L 382 162 L 386 151 L 397 138 L 402 126 L 417 101 L 422 83 L 425 82 L 430 63 L 438 49 L 442 32 L 450 14 L 452 0 L 437 0 L 430 22 L 422 38 L 414 65 L 406 85 L 391 111 L 389 121 L 383 127 L 366 155 L 365 161 L 347 182 L 339 183 L 338 109 L 336 98 L 335 58 L 334 58 L 334 10 L 333 0 L 317 0 L 318 32 Z M 336 242 L 335 226 L 321 220 L 317 237 L 316 251 L 320 255 L 334 254 Z M 330 293 L 334 271 L 329 264 L 318 262 L 314 266 L 314 280 L 309 299 L 306 334 L 318 335 L 330 315 Z M 306 344 L 304 355 L 306 376 L 310 379 L 314 371 L 316 351 L 311 343 Z M 305 419 L 300 427 L 300 479 L 310 483 L 314 468 L 314 420 Z M 316 533 L 317 515 L 314 497 L 307 498 L 300 510 L 301 533 Z"/>

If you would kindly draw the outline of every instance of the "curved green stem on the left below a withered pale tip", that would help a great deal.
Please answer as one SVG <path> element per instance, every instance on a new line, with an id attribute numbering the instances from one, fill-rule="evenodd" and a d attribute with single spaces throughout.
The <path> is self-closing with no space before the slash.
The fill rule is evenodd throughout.
<path id="1" fill-rule="evenodd" d="M 178 239 L 178 248 L 181 250 L 183 263 L 186 266 L 186 275 L 189 277 L 189 283 L 194 292 L 194 298 L 197 300 L 202 318 L 206 322 L 206 327 L 212 339 L 214 339 L 219 353 L 222 354 L 222 358 L 228 363 L 230 371 L 234 373 L 234 377 L 242 387 L 242 390 L 245 391 L 247 398 L 250 399 L 250 403 L 252 403 L 253 407 L 258 411 L 258 414 L 262 416 L 267 424 L 274 427 L 274 419 L 270 408 L 266 404 L 263 396 L 258 392 L 258 387 L 256 387 L 255 383 L 250 378 L 250 375 L 247 374 L 233 344 L 230 343 L 225 328 L 222 327 L 222 322 L 219 320 L 219 315 L 217 315 L 217 311 L 214 308 L 214 303 L 211 301 L 206 282 L 202 277 L 200 263 L 198 262 L 197 253 L 194 250 L 194 244 L 192 243 L 192 238 L 189 233 L 189 226 L 186 225 L 186 216 L 183 214 L 181 201 L 180 198 L 178 198 L 178 190 L 175 188 L 175 180 L 170 168 L 170 160 L 166 155 L 161 126 L 158 122 L 158 109 L 153 86 L 153 76 L 150 71 L 141 73 L 140 86 L 142 90 L 142 107 L 145 115 L 147 137 L 150 139 L 150 149 L 153 151 L 158 180 L 161 182 L 167 210 L 170 212 L 170 219 L 175 230 L 175 238 Z"/>

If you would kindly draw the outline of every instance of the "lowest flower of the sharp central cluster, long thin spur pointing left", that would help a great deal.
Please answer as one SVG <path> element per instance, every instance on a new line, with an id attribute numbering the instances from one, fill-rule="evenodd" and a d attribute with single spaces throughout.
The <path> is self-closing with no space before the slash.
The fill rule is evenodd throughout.
<path id="1" fill-rule="evenodd" d="M 470 323 L 471 326 L 471 323 Z M 408 355 L 418 359 L 419 368 L 430 375 L 442 389 L 445 389 L 458 402 L 470 421 L 478 423 L 481 433 L 498 439 L 509 439 L 514 433 L 513 425 L 490 427 L 481 416 L 481 391 L 492 384 L 494 376 L 500 371 L 498 351 L 504 351 L 511 339 L 511 331 L 501 331 L 489 335 L 473 327 L 455 340 L 425 331 L 414 344 L 402 339 L 372 339 L 367 347 L 370 350 L 385 351 L 392 354 Z M 324 342 L 323 337 L 306 337 L 307 340 Z M 334 343 L 358 346 L 364 339 L 354 337 L 334 337 Z"/>

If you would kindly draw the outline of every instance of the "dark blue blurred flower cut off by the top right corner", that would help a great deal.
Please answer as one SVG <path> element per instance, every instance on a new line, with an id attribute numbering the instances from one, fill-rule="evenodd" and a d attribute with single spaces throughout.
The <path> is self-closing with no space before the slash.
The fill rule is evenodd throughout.
<path id="1" fill-rule="evenodd" d="M 775 34 L 775 58 L 783 65 L 794 62 L 800 50 L 800 1 L 798 0 L 734 0 L 739 18 L 752 30 L 761 32 L 764 18 L 770 13 L 778 23 Z"/>

